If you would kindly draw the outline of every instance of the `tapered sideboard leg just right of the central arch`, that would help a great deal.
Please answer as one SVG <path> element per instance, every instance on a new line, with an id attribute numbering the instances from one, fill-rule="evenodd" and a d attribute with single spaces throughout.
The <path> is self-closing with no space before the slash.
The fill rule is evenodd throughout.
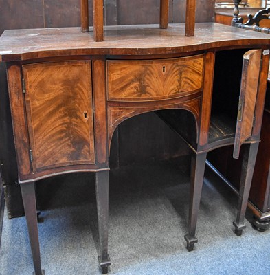
<path id="1" fill-rule="evenodd" d="M 205 171 L 206 152 L 192 155 L 191 180 L 190 180 L 190 210 L 188 214 L 188 234 L 185 235 L 187 250 L 192 251 L 194 243 L 198 242 L 195 236 L 201 201 L 201 189 L 203 187 L 203 175 Z"/>

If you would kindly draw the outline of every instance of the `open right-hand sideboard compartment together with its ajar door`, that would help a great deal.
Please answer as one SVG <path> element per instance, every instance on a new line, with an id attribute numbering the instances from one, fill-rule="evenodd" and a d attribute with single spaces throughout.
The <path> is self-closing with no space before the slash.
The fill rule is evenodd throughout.
<path id="1" fill-rule="evenodd" d="M 234 158 L 251 137 L 260 74 L 261 50 L 216 53 L 210 148 L 234 142 Z"/>

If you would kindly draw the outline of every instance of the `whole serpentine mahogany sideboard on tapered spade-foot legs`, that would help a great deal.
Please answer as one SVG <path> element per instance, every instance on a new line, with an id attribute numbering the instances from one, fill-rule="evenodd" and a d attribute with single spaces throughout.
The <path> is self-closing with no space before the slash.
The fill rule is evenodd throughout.
<path id="1" fill-rule="evenodd" d="M 247 152 L 236 234 L 260 141 L 270 37 L 216 23 L 106 27 L 104 41 L 80 28 L 8 30 L 0 61 L 10 107 L 34 270 L 41 270 L 34 184 L 63 173 L 94 172 L 100 265 L 108 272 L 109 151 L 122 121 L 157 111 L 193 148 L 188 250 L 193 249 L 208 151 L 234 144 Z M 232 74 L 221 77 L 223 69 Z M 223 93 L 221 87 L 231 83 Z M 232 85 L 233 83 L 233 85 Z M 239 100 L 240 97 L 240 100 Z M 169 111 L 169 112 L 167 112 Z M 172 111 L 172 112 L 171 112 Z"/>

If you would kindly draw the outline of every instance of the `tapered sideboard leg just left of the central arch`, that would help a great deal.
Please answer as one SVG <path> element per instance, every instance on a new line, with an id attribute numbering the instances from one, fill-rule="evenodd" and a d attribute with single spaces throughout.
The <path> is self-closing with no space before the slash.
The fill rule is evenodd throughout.
<path id="1" fill-rule="evenodd" d="M 111 260 L 108 254 L 109 219 L 109 170 L 95 173 L 95 192 L 98 208 L 98 232 L 100 236 L 100 256 L 98 261 L 102 274 L 108 273 Z"/>

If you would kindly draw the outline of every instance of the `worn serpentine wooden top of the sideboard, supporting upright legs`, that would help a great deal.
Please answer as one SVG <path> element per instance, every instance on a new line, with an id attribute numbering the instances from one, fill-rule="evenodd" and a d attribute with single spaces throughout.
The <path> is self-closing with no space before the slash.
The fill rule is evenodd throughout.
<path id="1" fill-rule="evenodd" d="M 93 41 L 93 30 L 45 28 L 5 30 L 0 61 L 92 54 L 177 54 L 223 47 L 269 45 L 270 36 L 218 23 L 196 23 L 195 36 L 185 36 L 185 24 L 107 26 L 104 41 Z"/>

